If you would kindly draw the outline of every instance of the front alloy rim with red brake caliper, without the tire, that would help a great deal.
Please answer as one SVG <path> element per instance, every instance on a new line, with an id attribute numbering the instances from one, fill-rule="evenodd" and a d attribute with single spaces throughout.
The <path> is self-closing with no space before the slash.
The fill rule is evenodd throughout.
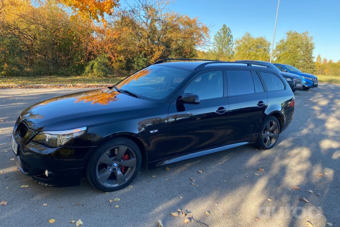
<path id="1" fill-rule="evenodd" d="M 135 151 L 125 145 L 118 145 L 106 150 L 98 159 L 96 177 L 106 187 L 117 187 L 133 176 L 137 167 Z"/>

